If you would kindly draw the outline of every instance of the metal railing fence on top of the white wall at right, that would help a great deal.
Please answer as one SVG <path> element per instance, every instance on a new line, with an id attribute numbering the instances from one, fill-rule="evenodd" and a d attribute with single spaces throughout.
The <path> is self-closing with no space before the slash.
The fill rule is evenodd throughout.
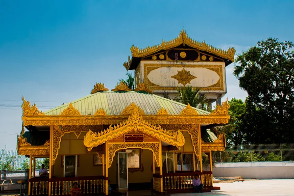
<path id="1" fill-rule="evenodd" d="M 215 163 L 294 161 L 294 144 L 228 145 L 212 156 Z"/>

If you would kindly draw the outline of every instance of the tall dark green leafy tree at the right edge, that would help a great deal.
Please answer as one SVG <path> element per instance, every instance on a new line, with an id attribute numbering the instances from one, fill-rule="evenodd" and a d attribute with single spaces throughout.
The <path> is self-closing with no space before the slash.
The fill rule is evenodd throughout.
<path id="1" fill-rule="evenodd" d="M 293 46 L 269 38 L 237 56 L 233 74 L 248 93 L 241 126 L 246 143 L 294 142 Z"/>

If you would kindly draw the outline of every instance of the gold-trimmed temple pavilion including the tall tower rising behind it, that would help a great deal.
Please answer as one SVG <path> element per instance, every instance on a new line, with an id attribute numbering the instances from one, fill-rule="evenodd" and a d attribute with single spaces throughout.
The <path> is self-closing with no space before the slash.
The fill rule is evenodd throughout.
<path id="1" fill-rule="evenodd" d="M 234 48 L 196 42 L 183 30 L 172 41 L 132 46 L 131 52 L 123 65 L 135 70 L 134 91 L 123 83 L 111 91 L 97 83 L 88 96 L 45 112 L 23 97 L 17 150 L 30 157 L 29 196 L 69 195 L 73 182 L 83 194 L 109 195 L 108 184 L 186 193 L 193 192 L 194 174 L 204 191 L 219 189 L 213 186 L 211 154 L 224 151 L 226 140 L 206 128 L 227 124 L 229 105 L 210 113 L 164 96 L 191 85 L 203 88 L 210 102 L 220 102 Z M 202 167 L 203 154 L 208 168 Z M 33 172 L 38 158 L 49 158 L 48 176 Z"/>

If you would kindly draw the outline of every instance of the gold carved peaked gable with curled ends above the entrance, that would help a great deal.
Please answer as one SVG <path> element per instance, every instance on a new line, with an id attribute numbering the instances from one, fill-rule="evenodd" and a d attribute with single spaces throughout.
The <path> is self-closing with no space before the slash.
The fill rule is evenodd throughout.
<path id="1" fill-rule="evenodd" d="M 146 133 L 176 147 L 183 146 L 185 143 L 185 138 L 181 131 L 166 131 L 161 129 L 160 126 L 150 124 L 140 116 L 139 109 L 134 109 L 128 120 L 119 125 L 110 125 L 107 130 L 98 133 L 89 130 L 84 138 L 84 145 L 88 147 L 88 151 L 91 151 L 93 147 L 120 137 L 130 131 Z"/>

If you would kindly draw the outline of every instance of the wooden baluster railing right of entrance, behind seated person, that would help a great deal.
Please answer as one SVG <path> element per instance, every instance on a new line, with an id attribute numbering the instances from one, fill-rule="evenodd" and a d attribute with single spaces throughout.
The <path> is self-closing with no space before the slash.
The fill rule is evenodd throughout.
<path id="1" fill-rule="evenodd" d="M 212 172 L 186 172 L 186 173 L 169 173 L 163 174 L 163 190 L 179 190 L 179 189 L 191 189 L 193 188 L 194 175 L 198 174 L 203 176 L 203 186 L 212 186 Z"/>

